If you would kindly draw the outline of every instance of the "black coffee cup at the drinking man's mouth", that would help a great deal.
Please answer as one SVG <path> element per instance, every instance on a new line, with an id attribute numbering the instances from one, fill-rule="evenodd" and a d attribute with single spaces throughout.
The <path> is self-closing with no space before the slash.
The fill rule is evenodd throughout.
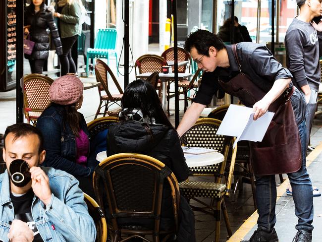
<path id="1" fill-rule="evenodd" d="M 9 175 L 11 181 L 16 186 L 25 186 L 31 180 L 31 174 L 29 172 L 29 165 L 24 160 L 14 160 L 9 166 Z"/>

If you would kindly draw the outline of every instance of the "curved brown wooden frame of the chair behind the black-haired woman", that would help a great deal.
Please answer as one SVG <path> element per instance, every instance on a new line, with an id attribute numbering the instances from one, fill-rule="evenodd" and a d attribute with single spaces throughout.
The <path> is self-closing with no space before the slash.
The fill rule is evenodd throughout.
<path id="1" fill-rule="evenodd" d="M 115 168 L 121 168 L 122 166 L 139 166 L 145 167 L 154 174 L 157 174 L 154 192 L 153 192 L 153 208 L 152 211 L 128 211 L 127 209 L 120 208 L 118 206 L 118 200 L 114 194 L 115 187 L 112 179 L 112 171 Z M 162 200 L 162 190 L 163 190 L 163 180 L 167 180 L 171 187 L 172 193 L 172 205 L 173 205 L 173 216 L 175 221 L 175 228 L 169 232 L 160 231 L 160 214 L 161 214 L 161 200 Z M 154 242 L 159 242 L 159 234 L 167 234 L 163 241 L 167 240 L 170 235 L 177 233 L 178 230 L 178 211 L 180 203 L 179 195 L 179 185 L 169 168 L 167 168 L 163 163 L 147 155 L 134 154 L 134 153 L 120 153 L 107 157 L 100 165 L 96 168 L 93 175 L 93 185 L 95 189 L 95 194 L 98 199 L 98 203 L 104 208 L 104 198 L 102 192 L 102 187 L 100 184 L 104 183 L 104 190 L 107 193 L 108 209 L 111 215 L 111 236 L 113 237 L 113 242 L 117 241 L 127 241 L 133 237 L 140 237 L 144 241 L 148 241 L 144 238 L 146 235 L 151 235 Z M 138 191 L 136 191 L 138 192 Z M 144 199 L 144 198 L 142 198 Z M 140 229 L 138 226 L 133 228 L 125 228 L 119 226 L 117 223 L 117 218 L 154 218 L 155 226 L 152 230 Z M 122 239 L 121 235 L 125 234 L 128 237 Z"/>

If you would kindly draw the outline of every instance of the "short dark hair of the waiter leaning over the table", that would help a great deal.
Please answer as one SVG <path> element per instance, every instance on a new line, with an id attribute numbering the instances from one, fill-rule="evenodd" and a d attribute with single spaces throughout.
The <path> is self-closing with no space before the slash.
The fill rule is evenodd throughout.
<path id="1" fill-rule="evenodd" d="M 186 42 L 184 49 L 188 52 L 195 47 L 199 54 L 209 57 L 209 48 L 213 46 L 217 51 L 225 48 L 223 42 L 212 32 L 208 30 L 198 29 L 196 32 L 191 33 Z"/>

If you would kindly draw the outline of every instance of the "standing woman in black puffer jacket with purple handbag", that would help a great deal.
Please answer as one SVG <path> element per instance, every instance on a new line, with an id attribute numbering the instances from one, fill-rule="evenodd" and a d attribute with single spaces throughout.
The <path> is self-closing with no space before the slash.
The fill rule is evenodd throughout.
<path id="1" fill-rule="evenodd" d="M 43 73 L 45 60 L 48 59 L 50 49 L 49 32 L 56 47 L 56 54 L 62 54 L 61 42 L 53 13 L 48 10 L 44 0 L 32 0 L 24 12 L 25 34 L 29 34 L 29 39 L 35 42 L 31 55 L 25 55 L 29 60 L 31 73 Z M 26 27 L 28 26 L 28 27 Z"/>

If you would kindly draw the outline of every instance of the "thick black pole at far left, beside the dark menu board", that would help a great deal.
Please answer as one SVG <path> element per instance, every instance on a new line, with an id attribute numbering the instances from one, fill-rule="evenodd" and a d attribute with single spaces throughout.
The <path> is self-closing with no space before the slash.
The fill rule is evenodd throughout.
<path id="1" fill-rule="evenodd" d="M 16 1 L 16 122 L 23 122 L 23 0 Z"/>

